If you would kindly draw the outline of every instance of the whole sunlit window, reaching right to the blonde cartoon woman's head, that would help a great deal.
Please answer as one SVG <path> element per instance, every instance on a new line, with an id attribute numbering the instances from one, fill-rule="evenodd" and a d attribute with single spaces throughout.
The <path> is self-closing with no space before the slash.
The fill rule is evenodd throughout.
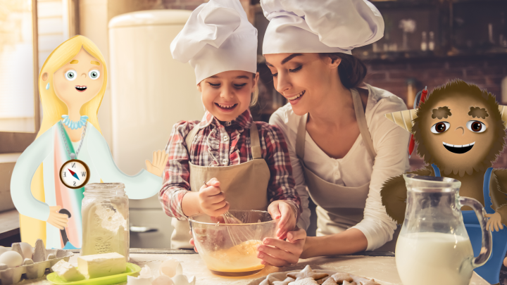
<path id="1" fill-rule="evenodd" d="M 0 0 L 0 153 L 21 153 L 42 121 L 38 76 L 76 34 L 77 0 Z"/>

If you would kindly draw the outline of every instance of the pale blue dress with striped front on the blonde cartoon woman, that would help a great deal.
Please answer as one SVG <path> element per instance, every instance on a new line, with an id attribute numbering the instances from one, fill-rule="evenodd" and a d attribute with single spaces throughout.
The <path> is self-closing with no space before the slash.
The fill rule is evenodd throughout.
<path id="1" fill-rule="evenodd" d="M 69 239 L 65 248 L 80 248 L 82 245 L 81 201 L 84 187 L 69 189 L 60 180 L 60 168 L 70 160 L 64 139 L 70 153 L 74 153 L 74 147 L 79 144 L 73 144 L 65 131 L 62 134 L 61 122 L 57 122 L 28 146 L 13 170 L 11 196 L 15 208 L 21 214 L 21 236 L 23 241 L 32 245 L 36 239 L 42 239 L 46 248 L 63 248 L 60 229 L 46 222 L 49 206 L 56 205 L 68 210 L 71 215 L 65 228 Z M 150 172 L 141 170 L 137 175 L 130 176 L 118 169 L 106 140 L 90 122 L 87 122 L 87 131 L 77 159 L 89 167 L 88 183 L 123 183 L 130 199 L 154 196 L 162 185 L 162 178 Z M 30 189 L 32 179 L 37 179 L 34 174 L 41 163 L 44 189 Z"/>

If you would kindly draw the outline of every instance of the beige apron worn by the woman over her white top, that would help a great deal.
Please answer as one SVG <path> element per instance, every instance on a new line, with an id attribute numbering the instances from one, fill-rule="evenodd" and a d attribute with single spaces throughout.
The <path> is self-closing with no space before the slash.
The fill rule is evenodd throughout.
<path id="1" fill-rule="evenodd" d="M 353 106 L 356 111 L 356 120 L 358 122 L 359 131 L 363 138 L 363 143 L 375 160 L 375 149 L 373 141 L 368 131 L 366 117 L 363 110 L 361 97 L 356 89 L 351 89 Z M 303 166 L 306 185 L 308 186 L 308 194 L 313 202 L 317 205 L 317 236 L 327 236 L 330 234 L 338 234 L 346 229 L 355 226 L 363 220 L 363 213 L 366 205 L 366 198 L 370 191 L 370 182 L 358 187 L 347 187 L 332 184 L 318 177 L 306 167 L 304 163 L 304 148 L 306 137 L 306 122 L 308 113 L 301 116 L 296 137 L 296 155 Z M 394 251 L 396 239 L 399 230 L 396 230 L 392 241 L 384 246 L 377 248 L 375 251 Z"/>

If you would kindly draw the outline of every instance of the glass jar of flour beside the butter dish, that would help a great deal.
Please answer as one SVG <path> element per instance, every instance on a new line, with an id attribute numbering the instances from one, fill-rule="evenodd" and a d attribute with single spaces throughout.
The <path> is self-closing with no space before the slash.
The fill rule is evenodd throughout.
<path id="1" fill-rule="evenodd" d="M 84 186 L 81 255 L 120 253 L 129 260 L 128 197 L 123 183 Z"/>

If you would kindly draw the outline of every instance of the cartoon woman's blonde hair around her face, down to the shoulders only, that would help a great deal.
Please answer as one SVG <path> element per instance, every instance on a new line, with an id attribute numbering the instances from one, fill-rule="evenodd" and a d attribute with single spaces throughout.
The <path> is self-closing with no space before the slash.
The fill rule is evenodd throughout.
<path id="1" fill-rule="evenodd" d="M 61 120 L 61 115 L 68 115 L 68 109 L 65 103 L 58 99 L 54 91 L 53 75 L 56 70 L 60 69 L 63 65 L 69 63 L 77 53 L 84 49 L 91 56 L 99 60 L 101 65 L 104 67 L 104 84 L 102 88 L 92 100 L 81 107 L 80 114 L 88 116 L 88 122 L 90 122 L 96 129 L 101 132 L 99 127 L 99 120 L 97 119 L 97 113 L 99 113 L 99 107 L 102 99 L 104 98 L 104 92 L 106 92 L 107 85 L 107 69 L 106 60 L 102 56 L 99 48 L 90 41 L 87 37 L 77 35 L 59 45 L 53 52 L 46 58 L 44 65 L 42 65 L 41 72 L 39 74 L 39 94 L 42 103 L 42 112 L 44 118 L 42 118 L 41 128 L 39 130 L 39 137 L 44 134 L 48 129 L 53 127 L 56 122 Z M 47 75 L 44 75 L 44 74 Z M 47 76 L 46 80 L 42 80 L 42 76 Z M 46 84 L 49 82 L 49 89 L 46 90 Z"/>

